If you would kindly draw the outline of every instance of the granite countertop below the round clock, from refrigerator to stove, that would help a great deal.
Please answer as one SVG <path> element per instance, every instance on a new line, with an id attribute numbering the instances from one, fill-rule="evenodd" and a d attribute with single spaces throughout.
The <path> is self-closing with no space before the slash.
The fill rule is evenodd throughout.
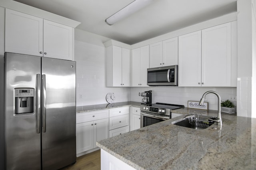
<path id="1" fill-rule="evenodd" d="M 82 113 L 87 111 L 97 111 L 97 110 L 104 110 L 104 109 L 113 109 L 113 108 L 125 107 L 125 106 L 140 107 L 140 102 L 117 102 L 117 103 L 111 103 L 111 104 L 77 106 L 76 113 Z"/>

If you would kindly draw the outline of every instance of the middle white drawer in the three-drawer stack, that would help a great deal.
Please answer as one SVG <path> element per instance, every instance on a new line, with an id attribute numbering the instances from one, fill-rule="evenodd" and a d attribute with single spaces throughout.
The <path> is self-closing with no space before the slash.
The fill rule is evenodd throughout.
<path id="1" fill-rule="evenodd" d="M 109 118 L 109 130 L 129 125 L 129 114 Z"/>

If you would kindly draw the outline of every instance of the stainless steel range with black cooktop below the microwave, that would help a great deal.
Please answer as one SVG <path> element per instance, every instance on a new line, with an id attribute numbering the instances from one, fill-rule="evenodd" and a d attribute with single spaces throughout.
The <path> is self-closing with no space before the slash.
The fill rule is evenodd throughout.
<path id="1" fill-rule="evenodd" d="M 147 104 L 140 106 L 140 127 L 145 127 L 172 118 L 172 110 L 184 107 L 176 104 Z"/>

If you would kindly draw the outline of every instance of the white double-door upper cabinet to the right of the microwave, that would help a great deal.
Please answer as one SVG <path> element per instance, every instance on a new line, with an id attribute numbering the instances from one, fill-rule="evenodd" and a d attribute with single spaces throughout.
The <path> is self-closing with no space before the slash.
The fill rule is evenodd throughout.
<path id="1" fill-rule="evenodd" d="M 236 76 L 231 52 L 236 41 L 231 25 L 224 23 L 179 37 L 178 86 L 228 87 Z M 234 27 L 236 29 L 236 27 Z M 202 35 L 202 37 L 201 37 Z M 202 53 L 201 53 L 202 51 Z M 233 54 L 236 60 L 236 54 Z"/>

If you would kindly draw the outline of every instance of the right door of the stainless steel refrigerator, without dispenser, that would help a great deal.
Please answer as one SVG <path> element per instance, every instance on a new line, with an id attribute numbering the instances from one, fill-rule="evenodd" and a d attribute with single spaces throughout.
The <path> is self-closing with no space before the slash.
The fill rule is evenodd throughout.
<path id="1" fill-rule="evenodd" d="M 76 63 L 42 57 L 42 169 L 76 162 Z"/>

